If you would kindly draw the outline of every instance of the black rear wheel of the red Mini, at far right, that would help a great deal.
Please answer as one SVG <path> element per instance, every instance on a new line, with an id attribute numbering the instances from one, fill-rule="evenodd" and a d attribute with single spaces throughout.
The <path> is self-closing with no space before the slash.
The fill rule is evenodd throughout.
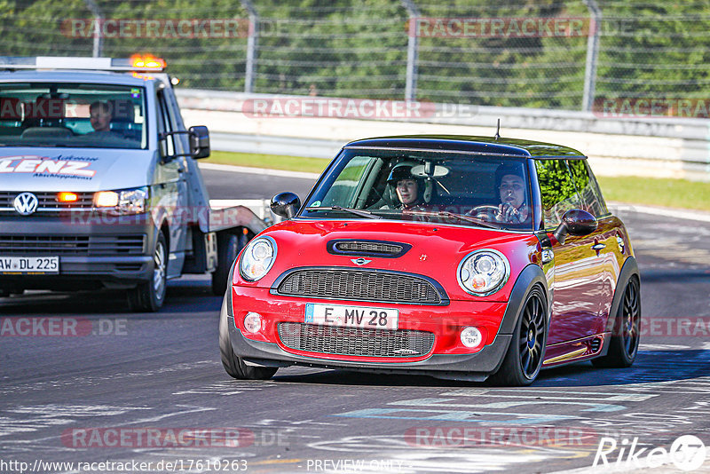
<path id="1" fill-rule="evenodd" d="M 641 295 L 639 282 L 634 276 L 624 288 L 619 312 L 614 320 L 614 332 L 609 342 L 609 352 L 604 357 L 592 359 L 595 367 L 631 367 L 638 352 L 641 324 Z"/>

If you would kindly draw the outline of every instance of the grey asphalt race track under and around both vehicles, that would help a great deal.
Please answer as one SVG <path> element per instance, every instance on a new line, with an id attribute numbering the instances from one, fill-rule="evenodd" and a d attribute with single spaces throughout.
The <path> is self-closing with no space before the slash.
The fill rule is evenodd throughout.
<path id="1" fill-rule="evenodd" d="M 311 185 L 204 174 L 215 199 L 304 198 Z M 607 462 L 632 467 L 629 452 L 641 452 L 638 467 L 652 472 L 651 449 L 659 460 L 682 435 L 710 454 L 710 222 L 619 215 L 642 272 L 635 365 L 550 369 L 525 389 L 301 367 L 235 381 L 218 356 L 221 301 L 203 277 L 171 281 L 154 314 L 131 314 L 110 291 L 0 299 L 0 472 L 87 471 L 77 462 L 114 462 L 83 465 L 95 472 L 552 472 L 591 468 L 600 443 Z M 55 317 L 84 336 L 6 334 L 7 320 Z M 696 453 L 676 461 L 690 466 L 683 455 Z"/>

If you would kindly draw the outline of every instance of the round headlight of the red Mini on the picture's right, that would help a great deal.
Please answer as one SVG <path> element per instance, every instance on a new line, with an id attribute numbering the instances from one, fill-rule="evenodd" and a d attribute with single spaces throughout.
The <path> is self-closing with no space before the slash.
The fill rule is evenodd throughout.
<path id="1" fill-rule="evenodd" d="M 456 275 L 461 288 L 476 296 L 495 293 L 509 276 L 508 258 L 493 249 L 477 250 L 464 257 Z"/>

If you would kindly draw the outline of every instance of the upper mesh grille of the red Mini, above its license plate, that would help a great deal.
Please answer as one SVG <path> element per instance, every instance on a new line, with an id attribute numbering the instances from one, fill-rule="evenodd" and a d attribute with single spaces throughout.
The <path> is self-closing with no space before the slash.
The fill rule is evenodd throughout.
<path id="1" fill-rule="evenodd" d="M 358 270 L 298 270 L 289 273 L 277 291 L 288 296 L 410 304 L 442 304 L 444 299 L 422 277 Z"/>

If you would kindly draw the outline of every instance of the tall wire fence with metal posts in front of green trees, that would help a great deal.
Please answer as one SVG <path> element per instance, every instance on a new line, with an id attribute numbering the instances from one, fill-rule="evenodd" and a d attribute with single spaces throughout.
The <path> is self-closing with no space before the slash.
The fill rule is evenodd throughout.
<path id="1" fill-rule="evenodd" d="M 425 2 L 5 1 L 0 54 L 150 51 L 217 91 L 707 116 L 707 1 Z"/>

